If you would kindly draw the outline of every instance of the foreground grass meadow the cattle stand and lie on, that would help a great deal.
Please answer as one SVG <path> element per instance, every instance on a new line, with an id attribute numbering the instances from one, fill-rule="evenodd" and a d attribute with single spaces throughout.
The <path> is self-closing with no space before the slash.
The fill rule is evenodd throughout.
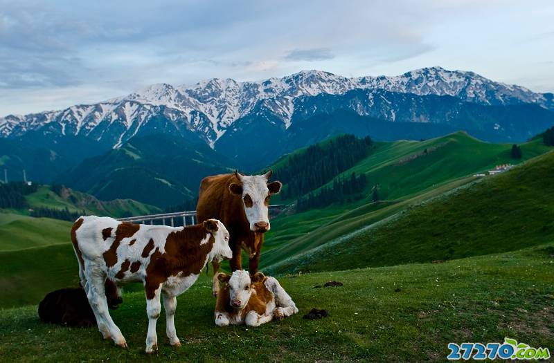
<path id="1" fill-rule="evenodd" d="M 283 277 L 300 313 L 258 328 L 213 323 L 215 301 L 202 275 L 179 297 L 175 324 L 183 346 L 144 351 L 142 292 L 125 294 L 112 311 L 129 348 L 103 341 L 96 328 L 43 324 L 36 306 L 0 310 L 0 357 L 18 362 L 445 362 L 449 342 L 554 345 L 554 245 L 443 264 L 415 264 Z M 337 288 L 314 288 L 325 281 Z M 311 308 L 330 317 L 303 320 Z"/>

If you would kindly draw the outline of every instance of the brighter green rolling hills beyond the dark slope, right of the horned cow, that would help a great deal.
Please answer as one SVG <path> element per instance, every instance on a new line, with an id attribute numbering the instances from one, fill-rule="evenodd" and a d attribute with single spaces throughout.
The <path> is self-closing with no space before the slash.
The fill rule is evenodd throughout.
<path id="1" fill-rule="evenodd" d="M 276 263 L 294 253 L 351 232 L 348 228 L 359 228 L 369 221 L 373 223 L 378 218 L 390 216 L 408 205 L 420 203 L 425 198 L 459 187 L 473 180 L 472 174 L 479 171 L 508 162 L 517 164 L 548 151 L 542 140 L 533 140 L 521 144 L 521 160 L 512 160 L 511 146 L 482 142 L 463 132 L 422 142 L 377 142 L 367 158 L 339 174 L 345 177 L 352 171 L 357 175 L 365 174 L 368 180 L 366 198 L 319 210 L 278 216 L 271 222 L 271 231 L 267 233 L 267 250 L 262 263 L 266 266 Z M 279 160 L 278 165 L 283 167 L 286 163 L 285 157 Z M 368 206 L 371 203 L 370 187 L 376 184 L 379 185 L 379 198 L 385 202 L 377 206 Z M 379 213 L 373 212 L 375 207 L 380 209 L 400 201 L 404 203 L 385 208 Z M 357 210 L 358 218 L 353 218 L 352 214 L 341 217 L 351 210 Z M 347 228 L 341 222 L 343 219 L 350 219 L 354 223 Z M 317 230 L 319 227 L 321 230 Z M 274 247 L 275 251 L 272 250 Z"/>

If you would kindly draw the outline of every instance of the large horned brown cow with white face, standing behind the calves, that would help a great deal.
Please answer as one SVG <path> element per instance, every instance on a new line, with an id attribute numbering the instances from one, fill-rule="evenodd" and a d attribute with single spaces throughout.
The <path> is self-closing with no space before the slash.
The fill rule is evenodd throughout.
<path id="1" fill-rule="evenodd" d="M 231 233 L 229 246 L 233 250 L 231 270 L 242 268 L 241 249 L 249 253 L 249 272 L 258 272 L 264 233 L 269 231 L 269 198 L 280 192 L 282 184 L 269 183 L 273 172 L 246 176 L 234 174 L 207 176 L 200 184 L 197 216 L 200 221 L 217 218 Z M 220 290 L 217 272 L 220 264 L 213 263 L 213 295 Z"/>

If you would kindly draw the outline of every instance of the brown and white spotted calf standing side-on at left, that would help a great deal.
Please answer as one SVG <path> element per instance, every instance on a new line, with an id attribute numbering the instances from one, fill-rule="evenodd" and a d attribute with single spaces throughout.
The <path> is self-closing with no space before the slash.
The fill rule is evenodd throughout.
<path id="1" fill-rule="evenodd" d="M 123 348 L 127 342 L 109 315 L 105 281 L 117 286 L 132 281 L 144 284 L 148 314 L 146 353 L 157 349 L 160 295 L 166 309 L 169 342 L 180 346 L 174 323 L 177 295 L 195 283 L 206 263 L 233 255 L 229 232 L 216 219 L 190 227 L 168 227 L 82 216 L 73 224 L 71 241 L 79 261 L 81 285 L 87 292 L 98 330 L 105 339 L 111 338 Z"/>

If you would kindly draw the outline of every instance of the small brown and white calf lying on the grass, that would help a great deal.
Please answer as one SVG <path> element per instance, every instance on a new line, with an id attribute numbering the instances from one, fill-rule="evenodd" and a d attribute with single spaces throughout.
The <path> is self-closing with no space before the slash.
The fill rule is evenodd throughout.
<path id="1" fill-rule="evenodd" d="M 274 277 L 258 272 L 251 279 L 248 272 L 236 270 L 231 276 L 217 274 L 217 279 L 226 283 L 217 294 L 214 313 L 217 326 L 259 326 L 298 313 L 294 301 Z"/>

